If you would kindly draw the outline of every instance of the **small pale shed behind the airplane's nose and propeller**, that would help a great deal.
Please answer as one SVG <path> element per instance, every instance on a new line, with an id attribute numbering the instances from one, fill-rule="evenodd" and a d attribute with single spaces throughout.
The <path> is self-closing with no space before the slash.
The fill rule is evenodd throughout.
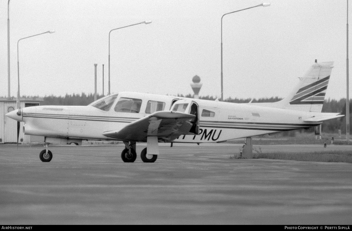
<path id="1" fill-rule="evenodd" d="M 0 97 L 0 143 L 17 143 L 17 121 L 5 116 L 8 112 L 17 110 L 16 100 L 15 97 Z M 43 98 L 37 97 L 19 100 L 21 108 L 39 106 L 41 101 Z M 44 141 L 42 136 L 24 135 L 23 125 L 23 122 L 20 122 L 19 143 Z"/>

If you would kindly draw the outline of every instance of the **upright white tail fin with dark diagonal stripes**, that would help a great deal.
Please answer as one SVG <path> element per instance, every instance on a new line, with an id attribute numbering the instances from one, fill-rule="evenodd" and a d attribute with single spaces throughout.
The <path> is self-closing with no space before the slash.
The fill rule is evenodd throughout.
<path id="1" fill-rule="evenodd" d="M 261 105 L 321 112 L 333 64 L 334 62 L 314 63 L 286 98 L 279 102 L 262 103 Z"/>

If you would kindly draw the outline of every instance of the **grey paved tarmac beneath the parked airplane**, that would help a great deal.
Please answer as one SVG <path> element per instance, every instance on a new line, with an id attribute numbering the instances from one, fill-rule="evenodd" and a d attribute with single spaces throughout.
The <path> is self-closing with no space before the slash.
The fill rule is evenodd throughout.
<path id="1" fill-rule="evenodd" d="M 163 144 L 144 163 L 141 144 L 124 163 L 121 144 L 49 146 L 50 162 L 40 145 L 0 145 L 0 224 L 351 225 L 350 163 L 231 159 L 241 146 Z M 352 152 L 320 146 L 260 148 Z"/>

